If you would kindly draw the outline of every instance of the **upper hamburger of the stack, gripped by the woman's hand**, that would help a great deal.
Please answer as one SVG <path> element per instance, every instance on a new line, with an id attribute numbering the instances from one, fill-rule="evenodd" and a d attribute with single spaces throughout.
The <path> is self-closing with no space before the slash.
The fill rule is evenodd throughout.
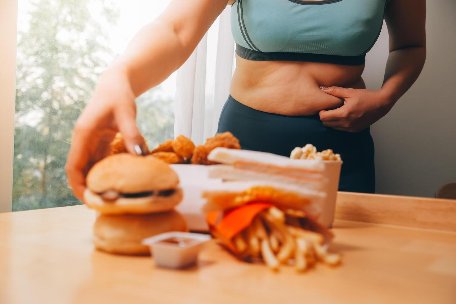
<path id="1" fill-rule="evenodd" d="M 151 155 L 109 155 L 88 172 L 84 202 L 102 214 L 147 214 L 172 210 L 182 199 L 179 178 Z"/>

